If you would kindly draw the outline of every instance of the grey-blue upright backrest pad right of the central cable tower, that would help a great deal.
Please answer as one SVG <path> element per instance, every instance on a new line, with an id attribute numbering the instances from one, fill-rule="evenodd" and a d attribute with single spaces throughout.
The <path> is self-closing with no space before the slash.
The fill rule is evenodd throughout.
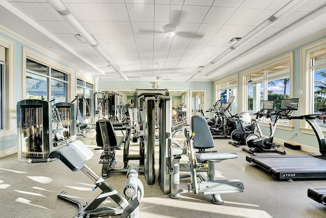
<path id="1" fill-rule="evenodd" d="M 192 131 L 194 136 L 195 149 L 211 149 L 214 148 L 214 140 L 210 133 L 204 116 L 196 115 L 192 117 Z"/>

